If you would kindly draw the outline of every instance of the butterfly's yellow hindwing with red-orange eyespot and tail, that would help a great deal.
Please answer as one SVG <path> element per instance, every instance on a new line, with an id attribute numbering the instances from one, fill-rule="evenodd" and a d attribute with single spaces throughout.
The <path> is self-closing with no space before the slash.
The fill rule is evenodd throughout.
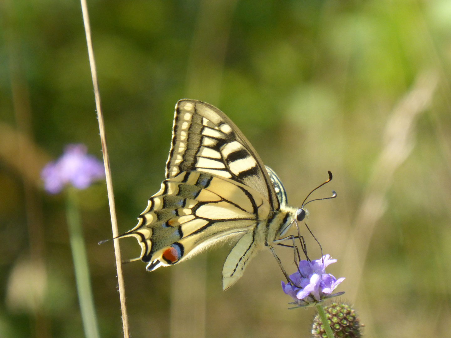
<path id="1" fill-rule="evenodd" d="M 124 236 L 138 239 L 141 259 L 154 270 L 241 237 L 269 212 L 267 200 L 252 188 L 212 174 L 182 172 L 161 183 L 138 225 Z"/>

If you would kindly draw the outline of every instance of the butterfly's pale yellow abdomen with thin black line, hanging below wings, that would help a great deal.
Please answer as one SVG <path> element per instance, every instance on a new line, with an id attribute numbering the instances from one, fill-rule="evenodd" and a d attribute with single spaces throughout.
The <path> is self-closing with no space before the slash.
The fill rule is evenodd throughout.
<path id="1" fill-rule="evenodd" d="M 246 233 L 235 244 L 222 268 L 222 289 L 225 291 L 243 275 L 247 263 L 257 249 L 254 233 Z"/>

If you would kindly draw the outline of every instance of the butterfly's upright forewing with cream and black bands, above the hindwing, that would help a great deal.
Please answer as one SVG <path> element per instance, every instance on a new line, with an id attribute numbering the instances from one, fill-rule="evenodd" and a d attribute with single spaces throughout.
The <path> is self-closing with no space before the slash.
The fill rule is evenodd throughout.
<path id="1" fill-rule="evenodd" d="M 212 105 L 179 100 L 166 178 L 194 170 L 242 183 L 260 192 L 272 209 L 279 207 L 262 160 L 235 124 Z"/>

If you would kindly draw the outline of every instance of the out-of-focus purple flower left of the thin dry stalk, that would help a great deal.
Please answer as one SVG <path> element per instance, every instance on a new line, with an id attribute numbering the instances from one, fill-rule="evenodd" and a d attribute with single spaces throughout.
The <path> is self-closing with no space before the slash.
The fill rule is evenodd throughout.
<path id="1" fill-rule="evenodd" d="M 89 187 L 105 178 L 105 169 L 95 156 L 87 154 L 85 145 L 69 144 L 56 162 L 49 162 L 42 169 L 41 178 L 46 191 L 57 194 L 68 183 L 78 189 Z"/>

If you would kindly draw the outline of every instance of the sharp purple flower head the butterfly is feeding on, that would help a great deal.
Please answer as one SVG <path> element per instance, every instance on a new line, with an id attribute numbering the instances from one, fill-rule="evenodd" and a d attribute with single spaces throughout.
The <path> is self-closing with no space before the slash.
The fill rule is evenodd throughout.
<path id="1" fill-rule="evenodd" d="M 326 266 L 337 260 L 330 259 L 330 255 L 324 255 L 319 260 L 301 260 L 299 271 L 290 274 L 292 283 L 282 281 L 282 290 L 291 296 L 298 306 L 313 306 L 326 298 L 336 297 L 344 292 L 331 294 L 335 288 L 345 280 L 336 279 L 331 274 L 326 274 Z"/>

